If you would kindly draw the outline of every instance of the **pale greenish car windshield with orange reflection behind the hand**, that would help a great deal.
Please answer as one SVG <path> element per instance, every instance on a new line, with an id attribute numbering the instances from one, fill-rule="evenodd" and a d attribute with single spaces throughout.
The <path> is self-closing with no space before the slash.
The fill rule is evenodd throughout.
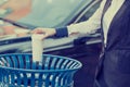
<path id="1" fill-rule="evenodd" d="M 66 25 L 92 0 L 0 0 L 0 17 L 43 27 Z"/>

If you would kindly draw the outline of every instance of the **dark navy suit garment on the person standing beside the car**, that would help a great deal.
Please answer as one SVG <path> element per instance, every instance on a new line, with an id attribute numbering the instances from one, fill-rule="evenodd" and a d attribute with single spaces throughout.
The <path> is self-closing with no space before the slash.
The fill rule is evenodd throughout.
<path id="1" fill-rule="evenodd" d="M 104 13 L 108 1 L 104 7 Z M 105 51 L 100 60 L 95 87 L 130 87 L 130 0 L 114 16 Z M 103 15 L 104 15 L 103 13 Z"/>

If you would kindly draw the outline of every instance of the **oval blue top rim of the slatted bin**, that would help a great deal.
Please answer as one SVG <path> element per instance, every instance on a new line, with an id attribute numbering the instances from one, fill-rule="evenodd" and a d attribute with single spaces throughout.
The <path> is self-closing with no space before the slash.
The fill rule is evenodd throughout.
<path id="1" fill-rule="evenodd" d="M 6 54 L 0 54 L 0 58 L 1 57 L 5 57 L 5 55 L 31 55 L 31 53 L 6 53 Z M 57 57 L 57 58 L 61 58 L 62 55 L 54 55 L 54 54 L 43 54 L 43 55 L 50 55 L 50 57 Z M 62 57 L 64 59 L 67 59 L 67 60 L 73 60 L 73 61 L 76 61 L 77 63 L 79 63 L 79 66 L 78 67 L 75 67 L 75 69 L 65 69 L 65 70 L 60 70 L 60 69 L 56 69 L 56 70 L 36 70 L 34 71 L 34 69 L 18 69 L 18 67 L 9 67 L 9 66 L 3 66 L 3 65 L 0 65 L 0 69 L 4 69 L 4 70 L 10 70 L 10 71 L 15 71 L 15 72 L 26 72 L 26 73 L 58 73 L 58 72 L 73 72 L 73 71 L 77 71 L 79 69 L 81 69 L 82 64 L 75 60 L 75 59 L 72 59 L 72 58 L 67 58 L 67 57 Z"/>

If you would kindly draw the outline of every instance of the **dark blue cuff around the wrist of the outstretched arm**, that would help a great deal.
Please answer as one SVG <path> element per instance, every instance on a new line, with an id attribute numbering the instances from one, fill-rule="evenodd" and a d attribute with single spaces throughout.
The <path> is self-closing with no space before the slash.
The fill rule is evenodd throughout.
<path id="1" fill-rule="evenodd" d="M 56 30 L 56 37 L 66 37 L 68 36 L 68 30 L 67 27 L 60 27 L 60 28 L 55 28 Z"/>

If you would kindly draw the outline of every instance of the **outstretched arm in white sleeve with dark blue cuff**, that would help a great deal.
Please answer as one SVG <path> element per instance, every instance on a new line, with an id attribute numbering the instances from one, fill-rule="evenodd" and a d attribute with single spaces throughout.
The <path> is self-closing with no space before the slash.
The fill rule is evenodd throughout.
<path id="1" fill-rule="evenodd" d="M 78 24 L 72 24 L 66 27 L 62 28 L 56 28 L 56 34 L 60 36 L 63 36 L 65 34 L 62 34 L 62 29 L 64 30 L 63 33 L 68 33 L 66 36 L 73 35 L 73 34 L 87 34 L 91 33 L 98 28 L 101 27 L 101 17 L 102 17 L 102 12 L 103 12 L 103 7 L 105 4 L 106 0 L 103 0 L 100 8 L 95 11 L 95 13 L 86 22 L 81 22 Z M 65 28 L 67 32 L 65 32 Z"/>

